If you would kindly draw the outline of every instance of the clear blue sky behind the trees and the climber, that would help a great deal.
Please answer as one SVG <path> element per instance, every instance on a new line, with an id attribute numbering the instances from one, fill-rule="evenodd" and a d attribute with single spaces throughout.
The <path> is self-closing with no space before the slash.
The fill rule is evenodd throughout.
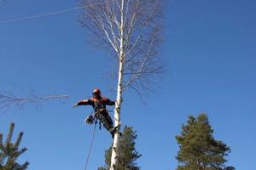
<path id="1" fill-rule="evenodd" d="M 74 0 L 7 0 L 0 20 L 77 6 Z M 228 165 L 254 170 L 256 152 L 256 2 L 253 0 L 169 0 L 162 58 L 167 72 L 144 105 L 125 92 L 122 122 L 137 130 L 138 164 L 144 170 L 177 167 L 181 124 L 207 112 L 216 139 L 230 145 Z M 95 87 L 110 99 L 113 81 L 104 73 L 113 63 L 91 48 L 79 26 L 79 11 L 0 25 L 0 90 L 24 95 L 68 94 L 60 103 L 27 105 L 0 115 L 0 131 L 15 122 L 28 148 L 19 161 L 31 170 L 84 169 L 92 127 L 82 127 L 91 108 L 71 106 Z M 94 67 L 97 65 L 96 67 Z M 157 144 L 159 143 L 159 144 Z M 96 131 L 88 169 L 104 164 L 109 134 Z"/>

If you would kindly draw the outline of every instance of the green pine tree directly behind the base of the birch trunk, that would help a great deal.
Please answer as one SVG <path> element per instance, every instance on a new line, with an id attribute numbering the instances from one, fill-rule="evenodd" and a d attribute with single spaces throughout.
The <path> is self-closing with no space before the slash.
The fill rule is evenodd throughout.
<path id="1" fill-rule="evenodd" d="M 135 162 L 141 154 L 135 149 L 136 131 L 132 127 L 125 126 L 123 135 L 120 137 L 120 146 L 118 150 L 119 162 L 117 170 L 139 170 Z M 112 147 L 105 151 L 105 167 L 99 167 L 98 170 L 108 170 L 111 164 Z"/>

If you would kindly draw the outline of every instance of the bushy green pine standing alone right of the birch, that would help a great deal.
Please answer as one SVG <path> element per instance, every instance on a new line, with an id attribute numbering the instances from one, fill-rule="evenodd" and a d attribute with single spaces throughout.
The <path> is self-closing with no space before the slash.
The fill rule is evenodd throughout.
<path id="1" fill-rule="evenodd" d="M 230 148 L 212 136 L 213 130 L 206 114 L 196 118 L 189 116 L 187 125 L 182 125 L 182 132 L 176 136 L 179 151 L 177 170 L 223 170 L 235 169 L 224 167 L 225 156 Z"/>

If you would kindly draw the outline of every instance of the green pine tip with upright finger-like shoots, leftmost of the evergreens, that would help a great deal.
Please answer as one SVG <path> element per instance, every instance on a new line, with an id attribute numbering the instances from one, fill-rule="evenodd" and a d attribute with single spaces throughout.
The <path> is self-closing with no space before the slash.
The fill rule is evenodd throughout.
<path id="1" fill-rule="evenodd" d="M 11 123 L 9 126 L 9 133 L 6 142 L 3 144 L 3 134 L 0 133 L 0 170 L 25 170 L 28 166 L 26 161 L 24 164 L 17 163 L 18 157 L 23 154 L 27 149 L 22 148 L 19 150 L 20 141 L 23 133 L 19 133 L 19 136 L 15 143 L 11 143 L 13 136 L 15 123 Z"/>

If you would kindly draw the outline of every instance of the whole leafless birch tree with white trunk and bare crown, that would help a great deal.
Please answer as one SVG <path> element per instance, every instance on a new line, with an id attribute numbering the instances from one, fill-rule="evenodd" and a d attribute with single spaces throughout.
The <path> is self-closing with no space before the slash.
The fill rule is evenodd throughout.
<path id="1" fill-rule="evenodd" d="M 102 42 L 116 60 L 117 97 L 111 170 L 118 162 L 120 109 L 123 92 L 132 88 L 137 94 L 150 90 L 154 76 L 162 71 L 159 58 L 163 0 L 82 0 L 83 26 Z"/>

